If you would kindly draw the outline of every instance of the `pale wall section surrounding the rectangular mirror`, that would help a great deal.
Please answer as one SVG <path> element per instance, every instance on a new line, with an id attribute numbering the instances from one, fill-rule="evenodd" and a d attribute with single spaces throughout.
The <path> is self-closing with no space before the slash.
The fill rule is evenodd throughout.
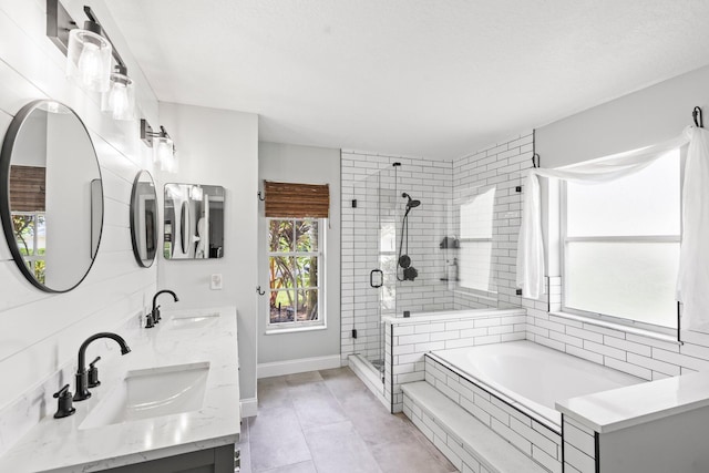
<path id="1" fill-rule="evenodd" d="M 165 260 L 158 250 L 157 285 L 173 289 L 181 308 L 236 306 L 242 399 L 255 398 L 258 116 L 174 103 L 161 103 L 160 116 L 175 141 L 179 163 L 176 174 L 156 173 L 161 209 L 166 183 L 223 186 L 226 209 L 224 257 Z M 213 274 L 222 275 L 222 290 L 209 289 Z"/>

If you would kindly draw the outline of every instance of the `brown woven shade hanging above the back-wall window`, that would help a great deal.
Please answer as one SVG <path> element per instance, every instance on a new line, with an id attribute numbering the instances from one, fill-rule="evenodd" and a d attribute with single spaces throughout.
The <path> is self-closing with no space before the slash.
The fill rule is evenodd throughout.
<path id="1" fill-rule="evenodd" d="M 328 218 L 330 187 L 327 184 L 294 184 L 264 181 L 266 216 Z"/>

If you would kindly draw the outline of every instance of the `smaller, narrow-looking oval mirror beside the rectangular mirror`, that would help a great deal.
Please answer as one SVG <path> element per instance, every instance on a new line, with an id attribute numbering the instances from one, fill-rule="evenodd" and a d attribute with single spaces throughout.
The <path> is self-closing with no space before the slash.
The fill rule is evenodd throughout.
<path id="1" fill-rule="evenodd" d="M 131 192 L 131 239 L 135 260 L 150 268 L 157 251 L 157 193 L 153 176 L 141 171 Z"/>

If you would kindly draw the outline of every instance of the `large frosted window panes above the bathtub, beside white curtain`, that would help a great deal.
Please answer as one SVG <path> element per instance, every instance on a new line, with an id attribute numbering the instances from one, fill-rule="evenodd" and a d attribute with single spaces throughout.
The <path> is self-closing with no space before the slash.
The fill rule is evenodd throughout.
<path id="1" fill-rule="evenodd" d="M 676 327 L 680 155 L 620 179 L 566 183 L 564 309 Z"/>

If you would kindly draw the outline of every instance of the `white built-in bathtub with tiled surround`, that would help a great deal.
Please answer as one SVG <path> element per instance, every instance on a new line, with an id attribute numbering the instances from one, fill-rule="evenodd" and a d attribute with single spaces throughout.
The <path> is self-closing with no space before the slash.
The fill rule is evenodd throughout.
<path id="1" fill-rule="evenodd" d="M 646 382 L 527 340 L 432 351 L 438 363 L 556 432 L 555 403 Z"/>

